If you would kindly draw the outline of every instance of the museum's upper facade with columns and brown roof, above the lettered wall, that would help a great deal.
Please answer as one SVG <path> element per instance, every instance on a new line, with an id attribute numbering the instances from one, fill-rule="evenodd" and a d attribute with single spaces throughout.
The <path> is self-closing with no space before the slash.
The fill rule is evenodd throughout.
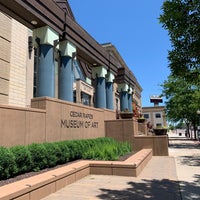
<path id="1" fill-rule="evenodd" d="M 111 110 L 132 111 L 132 102 L 141 108 L 142 88 L 115 46 L 98 44 L 67 1 L 0 7 L 1 104 L 26 107 L 48 96 Z"/>

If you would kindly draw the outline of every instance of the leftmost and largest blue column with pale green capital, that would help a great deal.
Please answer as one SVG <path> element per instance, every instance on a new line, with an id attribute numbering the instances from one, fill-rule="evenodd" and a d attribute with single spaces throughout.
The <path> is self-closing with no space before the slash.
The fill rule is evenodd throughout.
<path id="1" fill-rule="evenodd" d="M 58 33 L 48 26 L 35 29 L 33 38 L 39 43 L 39 63 L 37 70 L 37 96 L 55 96 L 55 66 L 54 41 L 59 38 Z M 35 40 L 34 40 L 35 41 Z"/>

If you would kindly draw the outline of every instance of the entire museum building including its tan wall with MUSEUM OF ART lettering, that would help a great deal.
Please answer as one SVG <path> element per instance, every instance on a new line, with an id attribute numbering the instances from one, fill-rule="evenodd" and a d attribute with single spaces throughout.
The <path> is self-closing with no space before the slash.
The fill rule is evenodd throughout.
<path id="1" fill-rule="evenodd" d="M 0 23 L 0 145 L 104 137 L 106 120 L 141 111 L 133 72 L 68 1 L 0 1 Z"/>

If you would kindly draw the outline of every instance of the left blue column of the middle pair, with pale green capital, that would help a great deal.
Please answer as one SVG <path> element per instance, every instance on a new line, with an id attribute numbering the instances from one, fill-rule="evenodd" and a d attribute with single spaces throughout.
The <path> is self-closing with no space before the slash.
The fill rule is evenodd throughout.
<path id="1" fill-rule="evenodd" d="M 95 78 L 95 107 L 106 108 L 106 77 L 107 69 L 103 66 L 94 67 L 92 76 Z"/>

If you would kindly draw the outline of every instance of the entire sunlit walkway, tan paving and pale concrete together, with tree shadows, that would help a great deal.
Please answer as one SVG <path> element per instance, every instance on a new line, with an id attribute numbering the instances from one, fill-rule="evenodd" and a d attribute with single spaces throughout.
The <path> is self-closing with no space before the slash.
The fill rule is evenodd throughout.
<path id="1" fill-rule="evenodd" d="M 183 138 L 170 139 L 170 156 L 153 157 L 137 178 L 90 175 L 43 200 L 200 199 L 199 147 Z"/>

